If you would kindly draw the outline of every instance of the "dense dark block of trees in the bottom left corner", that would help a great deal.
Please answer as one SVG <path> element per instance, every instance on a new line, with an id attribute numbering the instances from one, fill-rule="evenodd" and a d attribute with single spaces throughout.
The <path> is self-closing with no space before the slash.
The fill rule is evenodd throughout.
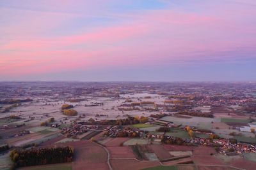
<path id="1" fill-rule="evenodd" d="M 33 148 L 30 150 L 12 150 L 10 157 L 15 167 L 37 166 L 71 162 L 74 148 L 70 146 L 55 148 Z"/>

